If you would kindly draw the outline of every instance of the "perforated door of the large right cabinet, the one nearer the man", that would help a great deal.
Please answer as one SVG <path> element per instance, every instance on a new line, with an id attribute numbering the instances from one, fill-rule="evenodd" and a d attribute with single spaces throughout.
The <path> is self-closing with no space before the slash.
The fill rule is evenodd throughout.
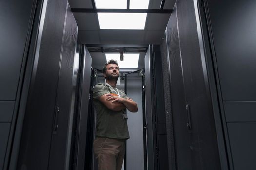
<path id="1" fill-rule="evenodd" d="M 170 20 L 167 25 L 167 47 L 169 54 L 170 73 L 170 95 L 171 101 L 168 104 L 172 110 L 174 142 L 176 147 L 177 169 L 190 170 L 191 151 L 190 138 L 187 130 L 187 116 L 185 109 L 185 93 L 183 85 L 182 65 L 179 47 L 179 37 L 177 28 L 177 11 L 173 9 Z M 166 85 L 165 85 L 166 86 Z M 165 87 L 166 88 L 166 87 Z M 167 100 L 168 102 L 169 100 Z M 169 125 L 170 126 L 170 125 Z M 167 129 L 168 130 L 168 129 Z M 169 141 L 170 139 L 168 139 Z M 180 142 L 182 141 L 182 142 Z M 174 154 L 174 153 L 173 153 Z M 181 163 L 183 162 L 183 163 Z"/>

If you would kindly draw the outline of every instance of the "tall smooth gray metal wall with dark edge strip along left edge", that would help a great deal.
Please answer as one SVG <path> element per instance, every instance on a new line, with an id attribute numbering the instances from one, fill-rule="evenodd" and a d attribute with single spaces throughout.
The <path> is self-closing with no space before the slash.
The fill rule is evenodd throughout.
<path id="1" fill-rule="evenodd" d="M 23 107 L 20 106 L 20 94 L 21 88 L 24 87 L 23 78 L 34 19 L 34 2 L 0 1 L 0 101 L 6 100 L 2 101 L 6 105 L 1 108 L 3 110 L 0 109 L 0 122 L 11 122 L 7 131 L 9 137 L 5 145 L 3 170 L 8 169 L 11 151 L 17 151 L 12 148 L 13 137 L 17 127 L 17 111 Z"/>

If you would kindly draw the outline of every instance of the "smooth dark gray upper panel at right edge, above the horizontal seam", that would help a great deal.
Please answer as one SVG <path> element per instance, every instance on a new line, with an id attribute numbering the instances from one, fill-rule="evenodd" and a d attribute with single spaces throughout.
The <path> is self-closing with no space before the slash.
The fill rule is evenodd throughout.
<path id="1" fill-rule="evenodd" d="M 223 101 L 256 101 L 256 1 L 207 1 Z"/>

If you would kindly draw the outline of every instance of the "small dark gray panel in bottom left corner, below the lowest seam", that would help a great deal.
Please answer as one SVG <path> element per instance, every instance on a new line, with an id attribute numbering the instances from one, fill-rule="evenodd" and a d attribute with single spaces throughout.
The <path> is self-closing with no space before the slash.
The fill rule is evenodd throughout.
<path id="1" fill-rule="evenodd" d="M 7 141 L 11 123 L 0 123 L 0 170 L 3 170 Z"/>

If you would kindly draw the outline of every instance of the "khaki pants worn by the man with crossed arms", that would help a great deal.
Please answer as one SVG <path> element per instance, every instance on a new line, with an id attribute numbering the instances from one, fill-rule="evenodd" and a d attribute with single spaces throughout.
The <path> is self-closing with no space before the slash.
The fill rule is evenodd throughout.
<path id="1" fill-rule="evenodd" d="M 96 137 L 93 142 L 94 154 L 98 160 L 98 170 L 121 170 L 125 139 Z"/>

